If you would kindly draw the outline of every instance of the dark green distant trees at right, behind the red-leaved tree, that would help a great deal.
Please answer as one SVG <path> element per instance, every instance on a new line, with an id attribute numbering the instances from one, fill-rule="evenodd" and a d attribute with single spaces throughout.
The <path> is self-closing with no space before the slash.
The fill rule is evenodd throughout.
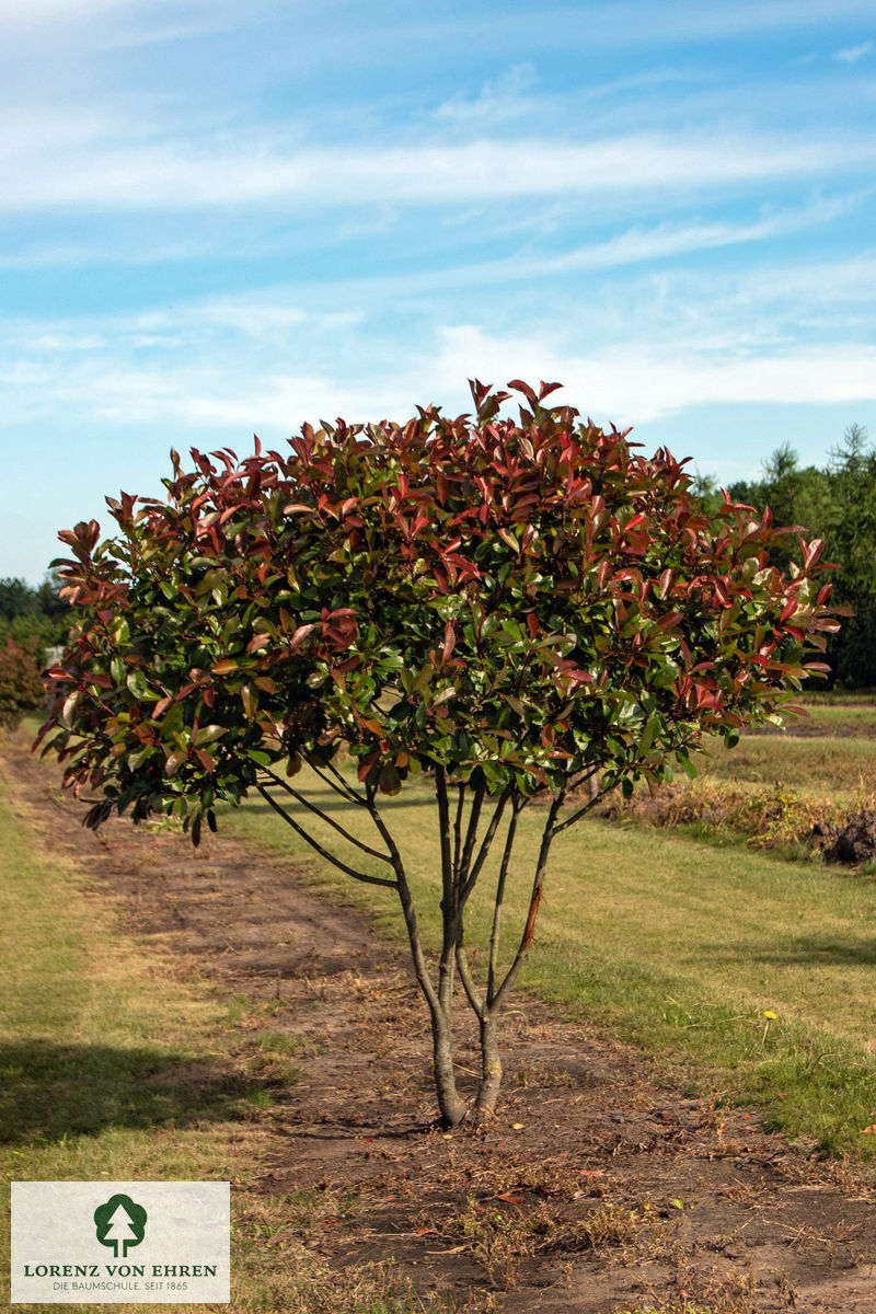
<path id="1" fill-rule="evenodd" d="M 734 502 L 763 511 L 771 507 L 776 526 L 800 526 L 806 539 L 825 540 L 825 561 L 841 569 L 833 577 L 831 602 L 854 610 L 842 629 L 830 636 L 830 683 L 838 689 L 876 686 L 876 451 L 867 430 L 851 424 L 830 449 L 823 469 L 800 465 L 788 444 L 776 448 L 763 478 L 741 480 L 728 489 Z M 721 495 L 713 480 L 700 477 L 699 493 L 713 509 Z M 775 555 L 787 569 L 800 561 L 800 535 L 789 533 Z"/>

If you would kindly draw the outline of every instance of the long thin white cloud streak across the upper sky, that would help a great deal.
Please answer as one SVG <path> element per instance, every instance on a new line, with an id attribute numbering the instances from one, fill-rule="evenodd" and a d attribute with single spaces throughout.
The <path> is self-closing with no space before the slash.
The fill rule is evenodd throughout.
<path id="1" fill-rule="evenodd" d="M 5 156 L 5 159 L 4 159 Z M 591 143 L 478 141 L 458 146 L 326 147 L 282 154 L 226 139 L 56 150 L 42 139 L 0 143 L 0 210 L 72 205 L 80 212 L 238 206 L 294 201 L 307 209 L 362 204 L 470 204 L 545 196 L 642 193 L 825 176 L 876 162 L 869 139 L 638 134 Z"/>

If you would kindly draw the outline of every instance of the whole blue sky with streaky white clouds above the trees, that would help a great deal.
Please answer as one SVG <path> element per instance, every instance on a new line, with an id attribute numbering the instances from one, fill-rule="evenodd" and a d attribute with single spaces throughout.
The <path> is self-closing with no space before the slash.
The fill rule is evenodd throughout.
<path id="1" fill-rule="evenodd" d="M 0 577 L 171 445 L 559 380 L 876 438 L 873 0 L 0 0 Z"/>

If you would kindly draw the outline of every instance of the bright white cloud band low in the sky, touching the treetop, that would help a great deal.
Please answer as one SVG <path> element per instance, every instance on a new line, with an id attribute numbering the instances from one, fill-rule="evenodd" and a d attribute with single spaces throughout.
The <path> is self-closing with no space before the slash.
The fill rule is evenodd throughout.
<path id="1" fill-rule="evenodd" d="M 609 344 L 599 336 L 577 346 L 578 336 L 574 326 L 569 331 L 553 322 L 516 334 L 477 323 L 445 325 L 407 351 L 395 344 L 387 364 L 381 343 L 368 340 L 365 326 L 334 360 L 309 351 L 306 338 L 297 351 L 281 343 L 267 353 L 267 334 L 248 352 L 223 352 L 214 360 L 189 342 L 184 365 L 172 356 L 138 364 L 109 335 L 102 350 L 96 343 L 75 364 L 74 342 L 59 342 L 53 355 L 43 336 L 30 344 L 29 359 L 7 367 L 0 381 L 13 423 L 39 414 L 64 414 L 80 423 L 91 417 L 105 428 L 118 427 L 120 435 L 131 426 L 160 423 L 163 431 L 188 431 L 196 442 L 208 430 L 217 442 L 253 430 L 274 442 L 305 419 L 401 419 L 427 401 L 448 411 L 465 410 L 470 406 L 465 381 L 475 374 L 496 385 L 512 377 L 561 380 L 562 396 L 599 423 L 619 426 L 705 403 L 876 401 L 876 347 L 855 342 L 745 350 L 734 346 L 733 334 L 703 339 L 695 330 L 665 339 L 633 331 Z M 162 339 L 162 346 L 173 350 L 169 339 Z"/>

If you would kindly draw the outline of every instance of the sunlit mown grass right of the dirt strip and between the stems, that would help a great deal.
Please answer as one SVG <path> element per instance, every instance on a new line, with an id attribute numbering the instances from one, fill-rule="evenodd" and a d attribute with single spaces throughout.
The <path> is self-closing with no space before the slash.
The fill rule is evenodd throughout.
<path id="1" fill-rule="evenodd" d="M 873 761 L 854 741 L 763 737 L 735 752 L 742 763 L 754 758 L 780 778 L 793 754 L 802 774 L 813 748 L 833 761 L 833 781 L 847 786 L 862 761 Z M 314 778 L 307 792 L 327 811 L 344 807 Z M 386 800 L 386 815 L 410 865 L 426 936 L 436 945 L 440 895 L 428 786 L 408 784 Z M 512 896 L 519 917 L 538 811 L 528 809 L 524 819 Z M 261 846 L 309 851 L 265 804 L 252 802 L 223 821 Z M 345 815 L 344 821 L 374 840 L 366 817 Z M 343 842 L 334 851 L 344 855 Z M 390 892 L 362 894 L 366 887 L 332 875 L 327 865 L 311 870 L 374 909 L 383 930 L 401 938 Z M 487 871 L 485 897 L 474 900 L 470 947 L 483 945 L 490 884 Z M 607 1034 L 645 1046 L 658 1064 L 686 1066 L 701 1092 L 754 1101 L 771 1127 L 869 1159 L 876 1138 L 862 1131 L 876 1121 L 875 918 L 871 878 L 780 862 L 742 844 L 716 846 L 634 824 L 584 821 L 552 850 L 524 984 Z"/>

